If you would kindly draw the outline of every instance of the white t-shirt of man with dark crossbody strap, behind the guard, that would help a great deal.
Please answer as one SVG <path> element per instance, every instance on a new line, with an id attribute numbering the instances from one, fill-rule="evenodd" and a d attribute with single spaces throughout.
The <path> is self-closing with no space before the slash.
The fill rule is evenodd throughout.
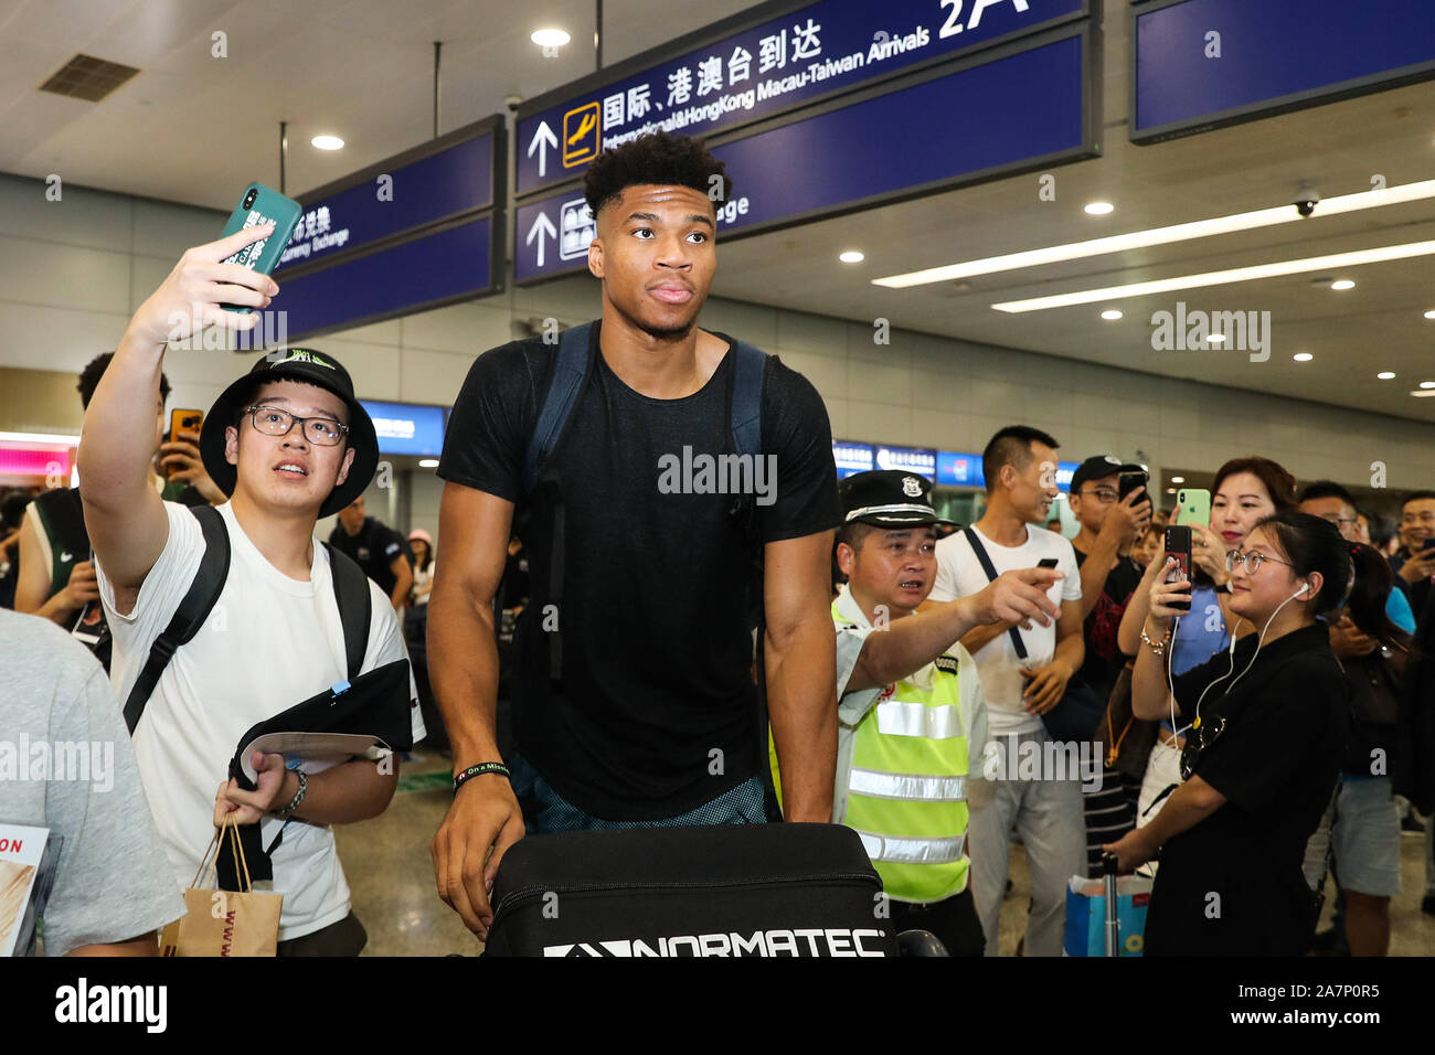
<path id="1" fill-rule="evenodd" d="M 1035 568 L 1038 561 L 1055 557 L 1056 570 L 1063 571 L 1066 577 L 1052 584 L 1046 591 L 1048 597 L 1056 604 L 1081 600 L 1076 551 L 1062 535 L 1027 524 L 1026 543 L 1012 547 L 997 545 L 977 528 L 973 531 L 980 537 L 982 547 L 999 576 L 1004 571 Z M 954 531 L 937 541 L 937 581 L 931 587 L 931 600 L 951 601 L 969 597 L 982 593 L 990 581 L 964 533 Z M 1052 662 L 1052 655 L 1056 652 L 1056 623 L 1043 627 L 1033 622 L 1030 630 L 1017 629 L 1017 633 L 1026 646 L 1025 660 L 1017 657 L 1009 633 L 989 642 L 973 656 L 982 679 L 982 693 L 987 700 L 987 725 L 992 735 L 1029 733 L 1042 728 L 1040 716 L 1030 713 L 1022 702 L 1027 680 L 1019 672 L 1022 667 L 1036 670 Z"/>

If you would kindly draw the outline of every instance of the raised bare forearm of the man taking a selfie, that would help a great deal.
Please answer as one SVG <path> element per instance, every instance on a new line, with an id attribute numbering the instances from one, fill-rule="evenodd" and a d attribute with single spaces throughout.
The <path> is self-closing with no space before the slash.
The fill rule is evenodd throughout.
<path id="1" fill-rule="evenodd" d="M 123 512 L 149 492 L 162 365 L 164 344 L 126 332 L 85 412 L 76 465 L 88 507 Z"/>

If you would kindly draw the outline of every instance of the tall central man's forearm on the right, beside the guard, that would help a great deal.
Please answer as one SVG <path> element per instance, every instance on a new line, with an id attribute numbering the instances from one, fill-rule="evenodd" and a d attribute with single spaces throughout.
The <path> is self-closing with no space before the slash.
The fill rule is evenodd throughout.
<path id="1" fill-rule="evenodd" d="M 432 603 L 432 601 L 430 601 Z M 837 779 L 837 644 L 824 610 L 792 633 L 763 643 L 768 716 L 778 749 L 786 820 L 832 820 Z"/>

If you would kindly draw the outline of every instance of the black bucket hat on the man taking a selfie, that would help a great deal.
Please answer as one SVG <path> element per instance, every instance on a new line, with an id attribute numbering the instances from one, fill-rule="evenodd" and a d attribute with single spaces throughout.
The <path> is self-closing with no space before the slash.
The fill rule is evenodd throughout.
<path id="1" fill-rule="evenodd" d="M 298 380 L 306 385 L 316 385 L 331 392 L 344 400 L 349 408 L 349 446 L 354 451 L 354 462 L 349 466 L 349 477 L 336 487 L 324 504 L 319 507 L 319 515 L 327 517 L 339 512 L 364 492 L 369 481 L 373 479 L 379 466 L 379 438 L 373 431 L 373 421 L 363 405 L 354 398 L 354 383 L 337 359 L 314 352 L 309 347 L 290 347 L 273 352 L 254 367 L 230 385 L 214 400 L 210 413 L 205 415 L 204 428 L 199 431 L 199 456 L 204 459 L 204 469 L 210 479 L 227 495 L 234 494 L 237 472 L 224 458 L 224 431 L 234 425 L 243 402 L 260 385 L 271 380 Z"/>

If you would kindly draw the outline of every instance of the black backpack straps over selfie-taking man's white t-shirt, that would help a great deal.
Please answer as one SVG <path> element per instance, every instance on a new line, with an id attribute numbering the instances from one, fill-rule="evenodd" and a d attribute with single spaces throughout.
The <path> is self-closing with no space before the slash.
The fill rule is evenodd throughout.
<path id="1" fill-rule="evenodd" d="M 212 505 L 194 505 L 189 512 L 199 521 L 199 530 L 204 533 L 204 555 L 169 626 L 149 646 L 149 657 L 125 699 L 125 725 L 129 726 L 131 735 L 145 713 L 145 705 L 159 683 L 159 675 L 169 666 L 179 646 L 191 640 L 204 626 L 230 574 L 230 533 L 224 525 L 224 517 Z M 329 550 L 334 601 L 339 604 L 339 622 L 344 630 L 344 660 L 349 679 L 353 680 L 359 676 L 363 653 L 369 644 L 369 619 L 373 613 L 369 578 L 347 554 L 329 543 L 323 545 Z"/>

